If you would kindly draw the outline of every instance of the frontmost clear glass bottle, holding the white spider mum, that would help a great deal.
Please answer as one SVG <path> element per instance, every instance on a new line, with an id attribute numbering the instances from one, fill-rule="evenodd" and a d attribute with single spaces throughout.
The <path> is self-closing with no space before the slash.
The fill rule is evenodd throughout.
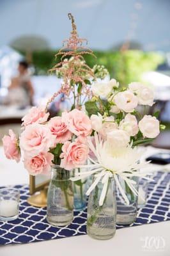
<path id="1" fill-rule="evenodd" d="M 93 182 L 95 180 L 93 177 Z M 114 179 L 109 178 L 107 194 L 104 204 L 100 206 L 99 199 L 103 184 L 98 182 L 97 186 L 88 199 L 87 232 L 90 237 L 99 240 L 111 239 L 116 232 L 116 196 Z"/>

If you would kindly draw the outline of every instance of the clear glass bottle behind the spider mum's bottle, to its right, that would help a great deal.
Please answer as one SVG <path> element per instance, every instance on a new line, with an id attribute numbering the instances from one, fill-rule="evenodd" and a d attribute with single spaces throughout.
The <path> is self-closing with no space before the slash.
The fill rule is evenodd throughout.
<path id="1" fill-rule="evenodd" d="M 134 188 L 137 189 L 139 187 L 139 178 L 132 177 L 132 180 L 136 182 Z M 116 188 L 116 202 L 117 202 L 117 214 L 116 214 L 116 223 L 120 225 L 130 225 L 134 223 L 137 216 L 137 198 L 132 190 L 128 187 L 127 182 L 120 178 L 121 187 L 124 189 L 128 200 L 129 205 L 126 204 L 123 196 L 121 195 L 118 188 Z"/>

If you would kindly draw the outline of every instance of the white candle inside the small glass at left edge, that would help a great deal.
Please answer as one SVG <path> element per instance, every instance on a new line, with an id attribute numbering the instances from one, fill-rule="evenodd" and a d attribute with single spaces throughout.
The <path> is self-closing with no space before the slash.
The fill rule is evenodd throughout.
<path id="1" fill-rule="evenodd" d="M 13 217 L 18 215 L 18 202 L 15 200 L 2 200 L 0 201 L 0 216 Z"/>

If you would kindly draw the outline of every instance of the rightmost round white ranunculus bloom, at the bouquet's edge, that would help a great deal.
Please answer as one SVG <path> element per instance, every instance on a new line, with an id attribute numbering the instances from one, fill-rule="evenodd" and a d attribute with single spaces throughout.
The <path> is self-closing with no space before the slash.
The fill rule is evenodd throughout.
<path id="1" fill-rule="evenodd" d="M 146 138 L 156 138 L 160 132 L 157 118 L 151 115 L 144 115 L 139 121 L 139 129 Z"/>

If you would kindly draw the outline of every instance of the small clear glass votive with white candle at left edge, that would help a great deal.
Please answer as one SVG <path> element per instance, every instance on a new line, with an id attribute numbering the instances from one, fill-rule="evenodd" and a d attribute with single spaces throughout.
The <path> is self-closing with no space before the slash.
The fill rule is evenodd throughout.
<path id="1" fill-rule="evenodd" d="M 16 188 L 0 189 L 0 220 L 16 220 L 19 216 L 20 192 Z"/>

